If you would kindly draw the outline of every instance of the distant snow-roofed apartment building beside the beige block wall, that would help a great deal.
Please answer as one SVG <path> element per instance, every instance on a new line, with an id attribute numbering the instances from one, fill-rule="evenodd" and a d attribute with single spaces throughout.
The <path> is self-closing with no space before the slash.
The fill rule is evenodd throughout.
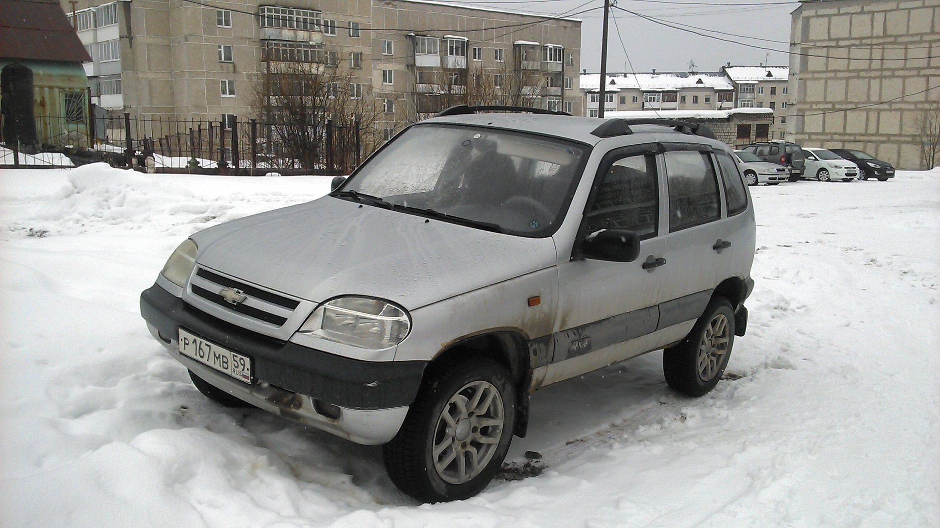
<path id="1" fill-rule="evenodd" d="M 734 85 L 735 108 L 770 108 L 774 111 L 770 139 L 788 139 L 787 117 L 796 101 L 790 93 L 790 69 L 728 65 L 721 70 Z"/>

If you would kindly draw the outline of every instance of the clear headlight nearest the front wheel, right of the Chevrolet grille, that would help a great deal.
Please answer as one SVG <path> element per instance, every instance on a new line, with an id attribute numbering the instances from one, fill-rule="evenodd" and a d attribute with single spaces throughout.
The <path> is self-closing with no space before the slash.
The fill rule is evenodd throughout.
<path id="1" fill-rule="evenodd" d="M 317 307 L 298 332 L 363 349 L 387 349 L 398 345 L 409 330 L 408 313 L 396 304 L 340 297 Z"/>

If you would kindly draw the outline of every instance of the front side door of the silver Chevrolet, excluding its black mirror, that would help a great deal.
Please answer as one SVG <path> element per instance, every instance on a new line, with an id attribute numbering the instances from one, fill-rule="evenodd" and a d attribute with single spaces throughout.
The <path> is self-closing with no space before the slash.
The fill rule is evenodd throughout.
<path id="1" fill-rule="evenodd" d="M 552 363 L 533 378 L 547 385 L 641 354 L 659 318 L 665 249 L 660 236 L 662 189 L 655 144 L 608 153 L 595 177 L 569 261 L 558 265 L 558 317 Z M 602 229 L 635 231 L 633 262 L 585 258 L 584 238 Z M 538 370 L 538 369 L 537 369 Z"/>

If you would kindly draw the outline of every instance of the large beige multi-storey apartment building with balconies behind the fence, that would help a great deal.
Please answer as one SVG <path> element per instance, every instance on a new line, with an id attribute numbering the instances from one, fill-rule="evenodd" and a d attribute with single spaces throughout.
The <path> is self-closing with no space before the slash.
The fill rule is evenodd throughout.
<path id="1" fill-rule="evenodd" d="M 302 70 L 385 134 L 452 103 L 577 111 L 581 23 L 426 0 L 61 0 L 112 115 L 264 116 Z M 276 94 L 274 94 L 276 95 Z"/>

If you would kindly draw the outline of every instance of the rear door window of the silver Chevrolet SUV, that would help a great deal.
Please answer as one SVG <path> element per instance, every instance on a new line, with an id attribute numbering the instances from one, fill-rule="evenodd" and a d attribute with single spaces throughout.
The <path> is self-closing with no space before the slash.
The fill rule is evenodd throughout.
<path id="1" fill-rule="evenodd" d="M 669 231 L 705 224 L 721 217 L 718 180 L 708 153 L 666 152 L 669 186 Z"/>

